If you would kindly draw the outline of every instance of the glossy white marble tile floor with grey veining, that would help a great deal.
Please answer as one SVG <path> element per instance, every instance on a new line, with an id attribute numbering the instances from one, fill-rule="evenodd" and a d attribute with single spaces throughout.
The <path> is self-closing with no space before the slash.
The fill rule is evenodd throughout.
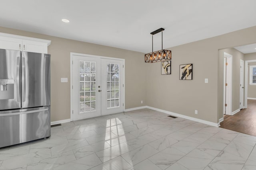
<path id="1" fill-rule="evenodd" d="M 150 109 L 52 127 L 0 149 L 0 170 L 255 170 L 256 137 Z"/>

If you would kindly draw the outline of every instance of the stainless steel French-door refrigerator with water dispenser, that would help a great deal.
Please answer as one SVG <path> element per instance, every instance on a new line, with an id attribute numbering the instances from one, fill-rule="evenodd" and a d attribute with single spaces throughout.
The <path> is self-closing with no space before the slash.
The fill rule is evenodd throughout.
<path id="1" fill-rule="evenodd" d="M 0 49 L 0 147 L 50 134 L 50 55 Z"/>

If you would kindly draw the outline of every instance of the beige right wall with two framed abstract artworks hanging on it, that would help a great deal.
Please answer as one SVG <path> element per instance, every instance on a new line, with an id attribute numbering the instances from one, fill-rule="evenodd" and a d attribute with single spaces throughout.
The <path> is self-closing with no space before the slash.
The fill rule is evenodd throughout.
<path id="1" fill-rule="evenodd" d="M 170 48 L 171 75 L 160 75 L 160 63 L 148 64 L 146 104 L 218 123 L 223 117 L 223 66 L 218 50 L 252 43 L 256 43 L 256 27 Z M 179 80 L 179 65 L 190 63 L 193 80 Z"/>

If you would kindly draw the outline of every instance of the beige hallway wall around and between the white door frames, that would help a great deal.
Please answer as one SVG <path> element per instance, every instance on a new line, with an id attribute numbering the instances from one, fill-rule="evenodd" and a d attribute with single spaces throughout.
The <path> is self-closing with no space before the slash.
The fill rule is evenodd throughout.
<path id="1" fill-rule="evenodd" d="M 234 48 L 219 50 L 219 64 L 220 64 L 219 69 L 222 70 L 222 72 L 224 71 L 223 70 L 224 53 L 228 53 L 233 56 L 232 57 L 232 112 L 233 112 L 240 108 L 240 60 L 244 61 L 244 54 Z M 222 82 L 223 82 L 223 74 L 222 74 Z"/>

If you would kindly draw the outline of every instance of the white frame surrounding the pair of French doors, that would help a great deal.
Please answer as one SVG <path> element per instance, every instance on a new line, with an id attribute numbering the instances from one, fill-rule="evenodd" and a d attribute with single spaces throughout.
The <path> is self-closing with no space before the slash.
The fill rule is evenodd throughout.
<path id="1" fill-rule="evenodd" d="M 114 58 L 114 57 L 104 57 L 104 56 L 99 56 L 99 55 L 89 55 L 89 54 L 81 54 L 81 53 L 70 53 L 70 121 L 73 121 L 73 55 L 79 55 L 79 56 L 84 56 L 84 57 L 98 57 L 100 59 L 112 59 L 112 60 L 121 60 L 124 62 L 124 71 L 123 71 L 123 94 L 122 95 L 122 100 L 124 101 L 124 107 L 123 111 L 125 109 L 125 60 L 120 59 L 120 58 Z"/>

